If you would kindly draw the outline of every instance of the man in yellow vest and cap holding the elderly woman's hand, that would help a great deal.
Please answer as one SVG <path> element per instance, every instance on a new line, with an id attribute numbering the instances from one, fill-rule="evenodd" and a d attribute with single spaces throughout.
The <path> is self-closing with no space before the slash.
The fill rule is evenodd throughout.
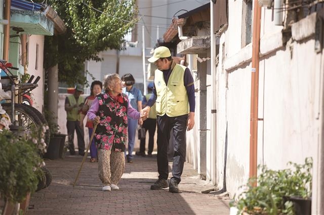
<path id="1" fill-rule="evenodd" d="M 150 107 L 155 103 L 157 114 L 157 172 L 158 180 L 151 190 L 169 186 L 169 192 L 178 193 L 185 160 L 186 130 L 194 126 L 195 95 L 190 70 L 176 64 L 169 48 L 160 46 L 154 49 L 149 62 L 157 66 L 154 88 L 147 106 L 141 115 L 148 116 Z M 168 185 L 168 145 L 173 129 L 174 155 L 172 177 Z"/>

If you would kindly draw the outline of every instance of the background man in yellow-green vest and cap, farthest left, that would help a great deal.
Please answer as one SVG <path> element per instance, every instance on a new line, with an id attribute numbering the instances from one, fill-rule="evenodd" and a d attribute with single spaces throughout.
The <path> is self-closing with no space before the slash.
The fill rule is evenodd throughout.
<path id="1" fill-rule="evenodd" d="M 82 107 L 85 98 L 80 96 L 83 93 L 83 86 L 80 84 L 75 85 L 74 93 L 65 98 L 65 111 L 66 111 L 66 128 L 69 141 L 69 151 L 71 155 L 75 154 L 74 151 L 74 131 L 77 135 L 77 146 L 79 155 L 85 155 L 85 132 L 83 128 Z"/>

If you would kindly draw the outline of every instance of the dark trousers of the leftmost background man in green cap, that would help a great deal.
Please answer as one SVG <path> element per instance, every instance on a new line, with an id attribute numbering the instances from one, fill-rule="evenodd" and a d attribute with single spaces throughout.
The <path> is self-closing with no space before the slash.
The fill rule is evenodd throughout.
<path id="1" fill-rule="evenodd" d="M 77 135 L 77 146 L 79 153 L 83 153 L 85 151 L 85 131 L 83 127 L 80 127 L 79 121 L 67 121 L 66 122 L 67 135 L 69 140 L 69 150 L 74 152 L 74 131 L 76 131 Z"/>

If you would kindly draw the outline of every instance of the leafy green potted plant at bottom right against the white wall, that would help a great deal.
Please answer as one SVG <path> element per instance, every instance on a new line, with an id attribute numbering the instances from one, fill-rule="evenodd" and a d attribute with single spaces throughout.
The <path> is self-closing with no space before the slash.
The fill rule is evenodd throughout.
<path id="1" fill-rule="evenodd" d="M 238 213 L 294 214 L 289 196 L 311 196 L 312 163 L 312 158 L 307 157 L 304 164 L 289 162 L 290 168 L 284 170 L 259 166 L 258 185 L 252 186 L 256 178 L 249 179 L 249 183 L 241 187 L 244 191 L 238 195 L 238 201 L 233 199 L 230 206 L 236 206 Z"/>

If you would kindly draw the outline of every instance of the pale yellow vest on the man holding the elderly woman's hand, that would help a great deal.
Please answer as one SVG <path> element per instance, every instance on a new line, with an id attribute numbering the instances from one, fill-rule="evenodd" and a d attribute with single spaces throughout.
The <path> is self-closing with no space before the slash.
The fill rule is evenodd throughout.
<path id="1" fill-rule="evenodd" d="M 172 69 L 172 67 L 171 67 Z M 155 70 L 154 84 L 156 89 L 156 114 L 177 117 L 189 114 L 189 99 L 183 84 L 183 75 L 186 67 L 176 64 L 172 69 L 168 85 L 163 72 Z"/>

